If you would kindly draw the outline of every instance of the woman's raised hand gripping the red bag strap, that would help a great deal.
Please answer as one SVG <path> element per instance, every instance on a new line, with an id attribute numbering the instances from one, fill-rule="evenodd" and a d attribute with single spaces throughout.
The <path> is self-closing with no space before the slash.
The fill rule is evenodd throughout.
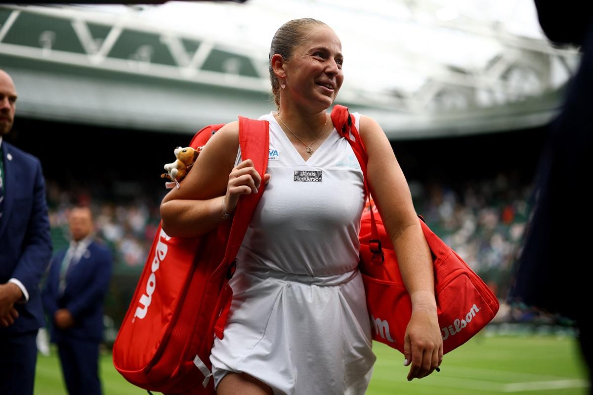
<path id="1" fill-rule="evenodd" d="M 264 174 L 264 182 L 267 184 L 269 180 L 270 175 Z M 224 199 L 225 212 L 232 214 L 235 211 L 241 195 L 257 194 L 261 183 L 262 177 L 253 167 L 251 159 L 239 163 L 228 176 L 227 194 Z"/>

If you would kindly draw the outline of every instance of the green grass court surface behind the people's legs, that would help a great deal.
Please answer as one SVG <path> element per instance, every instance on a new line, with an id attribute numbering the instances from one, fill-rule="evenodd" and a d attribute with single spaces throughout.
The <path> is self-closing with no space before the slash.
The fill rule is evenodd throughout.
<path id="1" fill-rule="evenodd" d="M 445 355 L 441 372 L 409 383 L 403 356 L 375 343 L 377 362 L 367 394 L 585 395 L 586 374 L 577 347 L 570 337 L 480 334 Z M 101 357 L 101 377 L 106 395 L 146 394 L 116 372 L 110 353 Z M 55 349 L 37 360 L 35 394 L 66 394 Z"/>

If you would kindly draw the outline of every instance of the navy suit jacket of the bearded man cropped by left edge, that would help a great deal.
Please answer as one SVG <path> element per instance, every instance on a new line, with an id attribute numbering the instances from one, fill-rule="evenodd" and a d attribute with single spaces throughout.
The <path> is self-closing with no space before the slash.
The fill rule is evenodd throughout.
<path id="1" fill-rule="evenodd" d="M 0 217 L 0 284 L 23 283 L 29 301 L 15 304 L 18 318 L 0 336 L 24 333 L 44 325 L 39 282 L 52 257 L 45 182 L 39 159 L 7 142 L 4 151 L 4 207 Z"/>

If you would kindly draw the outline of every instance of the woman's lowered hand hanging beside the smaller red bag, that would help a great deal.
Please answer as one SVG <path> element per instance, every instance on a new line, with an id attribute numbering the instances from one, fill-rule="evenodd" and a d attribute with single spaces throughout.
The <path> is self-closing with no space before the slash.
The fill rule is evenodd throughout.
<path id="1" fill-rule="evenodd" d="M 404 336 L 404 365 L 410 365 L 408 381 L 431 374 L 443 359 L 443 339 L 436 309 L 415 307 Z"/>

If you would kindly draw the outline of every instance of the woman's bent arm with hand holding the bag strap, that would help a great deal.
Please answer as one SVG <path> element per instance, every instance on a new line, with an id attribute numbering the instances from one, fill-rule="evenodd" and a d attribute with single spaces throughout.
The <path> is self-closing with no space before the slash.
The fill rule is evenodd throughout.
<path id="1" fill-rule="evenodd" d="M 233 167 L 239 147 L 238 122 L 222 127 L 208 141 L 180 188 L 162 200 L 162 229 L 169 236 L 196 237 L 225 221 L 240 195 L 256 192 L 261 182 L 251 160 Z M 269 177 L 269 176 L 268 176 Z M 268 178 L 266 177 L 266 178 Z"/>

